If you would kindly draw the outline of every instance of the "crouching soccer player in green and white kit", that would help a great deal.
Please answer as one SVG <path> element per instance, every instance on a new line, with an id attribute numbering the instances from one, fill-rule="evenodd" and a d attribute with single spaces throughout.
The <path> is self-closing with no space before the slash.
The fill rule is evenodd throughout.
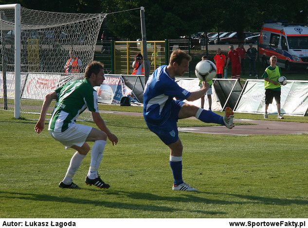
<path id="1" fill-rule="evenodd" d="M 55 140 L 65 145 L 66 149 L 76 150 L 64 179 L 59 183 L 59 187 L 78 188 L 72 182 L 72 177 L 81 165 L 83 158 L 90 151 L 90 146 L 86 141 L 94 141 L 86 184 L 95 185 L 98 188 L 109 188 L 109 184 L 102 181 L 97 171 L 103 158 L 107 137 L 112 145 L 117 144 L 118 138 L 109 131 L 101 118 L 97 107 L 97 93 L 93 88 L 100 86 L 105 80 L 104 65 L 96 61 L 89 63 L 84 77 L 83 80 L 69 82 L 45 96 L 35 131 L 40 133 L 44 129 L 47 110 L 52 100 L 56 100 L 57 103 L 48 126 L 49 133 Z M 87 107 L 92 113 L 93 121 L 100 130 L 76 123 L 77 117 Z"/>

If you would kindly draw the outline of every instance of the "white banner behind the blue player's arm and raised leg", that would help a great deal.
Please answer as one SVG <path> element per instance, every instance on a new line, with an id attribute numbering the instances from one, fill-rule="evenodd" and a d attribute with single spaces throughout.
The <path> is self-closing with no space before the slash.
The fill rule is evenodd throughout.
<path id="1" fill-rule="evenodd" d="M 199 79 L 198 78 L 176 78 L 175 81 L 181 88 L 184 88 L 188 91 L 196 91 L 199 90 Z M 220 104 L 219 98 L 217 97 L 217 93 L 215 88 L 212 86 L 212 110 L 213 111 L 220 111 L 222 110 L 222 106 Z M 201 99 L 196 101 L 186 101 L 187 104 L 195 105 L 197 107 L 201 106 Z M 204 109 L 209 108 L 209 102 L 207 95 L 204 96 Z"/>

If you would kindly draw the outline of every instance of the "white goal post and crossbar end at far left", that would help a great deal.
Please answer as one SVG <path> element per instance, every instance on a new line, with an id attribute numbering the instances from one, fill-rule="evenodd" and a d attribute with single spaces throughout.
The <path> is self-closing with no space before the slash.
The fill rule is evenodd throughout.
<path id="1" fill-rule="evenodd" d="M 0 5 L 0 11 L 2 9 L 14 9 L 15 10 L 15 98 L 14 98 L 14 118 L 20 118 L 20 35 L 21 35 L 21 19 L 20 19 L 20 4 L 6 4 Z M 2 44 L 3 45 L 3 44 Z"/>

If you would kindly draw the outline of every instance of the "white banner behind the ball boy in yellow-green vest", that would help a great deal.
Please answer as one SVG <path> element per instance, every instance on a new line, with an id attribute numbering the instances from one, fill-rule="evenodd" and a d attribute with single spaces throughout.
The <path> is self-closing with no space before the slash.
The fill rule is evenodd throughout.
<path id="1" fill-rule="evenodd" d="M 281 113 L 288 115 L 307 114 L 308 82 L 288 81 L 281 87 Z M 264 113 L 265 88 L 264 80 L 248 79 L 236 104 L 235 112 Z M 275 99 L 269 105 L 268 113 L 277 113 Z"/>

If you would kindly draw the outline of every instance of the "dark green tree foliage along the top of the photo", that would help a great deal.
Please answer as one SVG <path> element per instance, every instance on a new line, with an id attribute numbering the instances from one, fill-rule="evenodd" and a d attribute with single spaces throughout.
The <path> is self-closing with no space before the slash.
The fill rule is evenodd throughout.
<path id="1" fill-rule="evenodd" d="M 16 3 L 1 0 L 5 3 Z M 308 21 L 307 0 L 18 0 L 23 7 L 69 13 L 114 13 L 145 7 L 148 40 L 179 38 L 199 31 L 259 32 L 265 20 Z M 121 39 L 136 40 L 141 36 L 140 11 L 109 14 L 104 29 Z"/>

